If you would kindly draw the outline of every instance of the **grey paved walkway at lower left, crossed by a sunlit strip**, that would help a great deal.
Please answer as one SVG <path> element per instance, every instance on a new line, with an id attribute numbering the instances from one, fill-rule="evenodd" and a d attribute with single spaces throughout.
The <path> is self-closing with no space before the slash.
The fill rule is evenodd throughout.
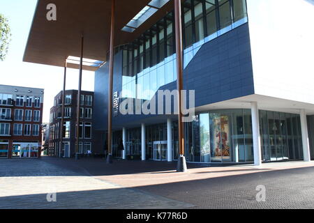
<path id="1" fill-rule="evenodd" d="M 191 207 L 188 203 L 127 189 L 43 160 L 0 161 L 0 208 Z"/>

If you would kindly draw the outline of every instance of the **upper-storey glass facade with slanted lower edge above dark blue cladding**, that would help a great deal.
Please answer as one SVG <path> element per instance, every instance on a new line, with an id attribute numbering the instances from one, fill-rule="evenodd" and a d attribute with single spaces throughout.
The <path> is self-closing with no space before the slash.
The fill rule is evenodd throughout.
<path id="1" fill-rule="evenodd" d="M 200 47 L 247 22 L 245 0 L 186 0 L 182 3 L 184 68 Z M 116 52 L 123 52 L 122 98 L 150 100 L 177 79 L 174 12 Z"/>

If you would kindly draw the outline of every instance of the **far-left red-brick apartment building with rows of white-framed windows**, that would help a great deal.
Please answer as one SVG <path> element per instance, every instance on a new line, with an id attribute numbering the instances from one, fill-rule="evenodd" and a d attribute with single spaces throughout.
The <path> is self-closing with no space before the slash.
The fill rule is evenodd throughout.
<path id="1" fill-rule="evenodd" d="M 40 157 L 44 89 L 0 85 L 0 157 Z"/>

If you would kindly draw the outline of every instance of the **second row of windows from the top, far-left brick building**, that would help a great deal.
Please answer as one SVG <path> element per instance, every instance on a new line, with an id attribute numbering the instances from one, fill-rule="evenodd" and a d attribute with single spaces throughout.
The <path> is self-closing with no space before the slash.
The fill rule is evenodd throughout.
<path id="1" fill-rule="evenodd" d="M 0 109 L 0 120 L 12 120 L 11 118 L 11 109 Z M 15 121 L 40 121 L 40 111 L 35 110 L 24 110 L 23 109 L 15 109 L 14 110 L 14 120 Z"/>

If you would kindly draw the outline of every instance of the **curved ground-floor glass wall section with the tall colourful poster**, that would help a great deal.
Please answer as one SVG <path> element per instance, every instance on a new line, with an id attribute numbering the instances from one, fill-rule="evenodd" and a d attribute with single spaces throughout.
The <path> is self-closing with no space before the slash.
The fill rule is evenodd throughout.
<path id="1" fill-rule="evenodd" d="M 219 110 L 186 123 L 188 162 L 253 162 L 251 111 Z"/>

